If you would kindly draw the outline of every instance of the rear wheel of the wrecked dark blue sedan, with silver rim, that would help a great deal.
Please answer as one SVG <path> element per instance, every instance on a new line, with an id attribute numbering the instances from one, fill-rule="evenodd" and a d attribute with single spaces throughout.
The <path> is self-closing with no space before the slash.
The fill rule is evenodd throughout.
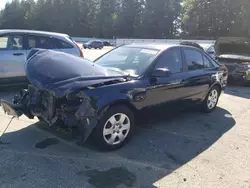
<path id="1" fill-rule="evenodd" d="M 220 88 L 218 86 L 212 87 L 208 92 L 206 98 L 202 103 L 202 111 L 205 113 L 210 113 L 214 111 L 217 107 L 220 97 Z"/>

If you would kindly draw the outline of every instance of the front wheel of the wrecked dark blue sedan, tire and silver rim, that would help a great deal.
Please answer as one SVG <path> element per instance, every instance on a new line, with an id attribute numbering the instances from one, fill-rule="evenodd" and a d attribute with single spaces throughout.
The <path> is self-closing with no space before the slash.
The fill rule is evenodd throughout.
<path id="1" fill-rule="evenodd" d="M 119 122 L 119 118 L 121 117 L 125 117 L 123 123 Z M 110 118 L 116 120 L 115 124 L 111 124 Z M 104 132 L 105 129 L 106 135 Z M 126 106 L 111 107 L 98 122 L 93 132 L 93 143 L 100 150 L 117 150 L 128 143 L 134 133 L 134 129 L 135 118 L 129 108 Z M 119 141 L 120 138 L 122 140 Z"/>

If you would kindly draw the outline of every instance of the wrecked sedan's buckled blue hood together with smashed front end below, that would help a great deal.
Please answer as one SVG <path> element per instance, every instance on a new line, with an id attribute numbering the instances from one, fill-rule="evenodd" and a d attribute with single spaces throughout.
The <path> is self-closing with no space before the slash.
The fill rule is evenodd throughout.
<path id="1" fill-rule="evenodd" d="M 105 108 L 85 91 L 124 81 L 124 75 L 108 72 L 88 60 L 51 50 L 32 50 L 25 64 L 30 81 L 10 103 L 1 100 L 5 113 L 30 119 L 35 116 L 50 126 L 78 128 L 87 140 Z"/>

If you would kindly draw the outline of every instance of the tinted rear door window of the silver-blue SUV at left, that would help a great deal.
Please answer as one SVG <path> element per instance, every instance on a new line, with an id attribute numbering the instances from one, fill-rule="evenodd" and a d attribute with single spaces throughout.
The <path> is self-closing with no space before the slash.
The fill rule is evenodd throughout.
<path id="1" fill-rule="evenodd" d="M 29 35 L 28 49 L 31 48 L 56 49 L 56 41 L 51 37 Z"/>

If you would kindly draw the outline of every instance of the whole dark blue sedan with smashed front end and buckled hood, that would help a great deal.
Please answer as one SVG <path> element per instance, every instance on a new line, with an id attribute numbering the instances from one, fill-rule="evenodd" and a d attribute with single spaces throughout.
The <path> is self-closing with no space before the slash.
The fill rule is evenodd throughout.
<path id="1" fill-rule="evenodd" d="M 13 104 L 1 101 L 5 112 L 77 127 L 84 141 L 91 135 L 109 150 L 129 141 L 141 110 L 198 104 L 212 112 L 228 77 L 204 51 L 182 45 L 125 45 L 94 63 L 37 50 L 25 69 L 31 85 Z"/>

